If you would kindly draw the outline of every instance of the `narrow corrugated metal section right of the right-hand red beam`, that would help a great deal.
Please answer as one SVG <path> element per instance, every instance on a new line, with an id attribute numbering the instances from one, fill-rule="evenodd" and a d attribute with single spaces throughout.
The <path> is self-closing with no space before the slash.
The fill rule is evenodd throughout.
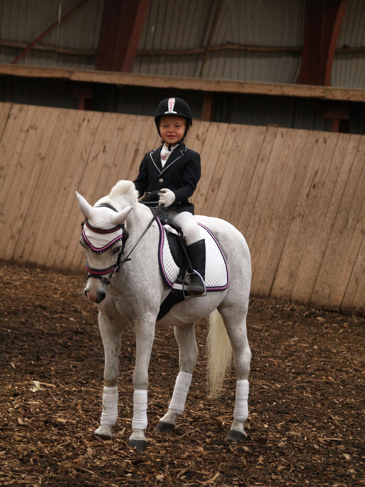
<path id="1" fill-rule="evenodd" d="M 365 47 L 365 0 L 350 0 L 338 37 L 337 48 Z M 336 54 L 332 86 L 365 88 L 365 52 Z"/>

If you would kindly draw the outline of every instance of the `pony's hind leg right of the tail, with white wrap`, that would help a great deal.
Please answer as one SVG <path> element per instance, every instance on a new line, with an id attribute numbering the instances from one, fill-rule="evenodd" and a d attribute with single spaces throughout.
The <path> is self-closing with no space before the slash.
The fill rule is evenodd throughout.
<path id="1" fill-rule="evenodd" d="M 233 315 L 232 311 L 228 312 L 228 310 L 225 311 L 224 309 L 219 309 L 233 349 L 234 365 L 237 374 L 236 403 L 233 412 L 234 421 L 225 438 L 226 440 L 231 441 L 244 441 L 247 437 L 244 430 L 244 424 L 248 417 L 248 376 L 250 374 L 251 350 L 247 339 L 247 310 L 245 311 L 246 312 L 243 313 L 244 318 L 242 319 L 242 310 L 240 313 L 235 313 Z"/>

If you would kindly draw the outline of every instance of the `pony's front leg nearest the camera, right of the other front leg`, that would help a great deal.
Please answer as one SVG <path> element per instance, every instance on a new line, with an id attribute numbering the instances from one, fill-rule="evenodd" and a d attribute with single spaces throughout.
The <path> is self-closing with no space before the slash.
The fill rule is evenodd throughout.
<path id="1" fill-rule="evenodd" d="M 133 372 L 132 434 L 128 446 L 137 451 L 146 449 L 148 365 L 155 336 L 156 317 L 140 319 L 133 325 L 136 337 L 136 363 Z"/>

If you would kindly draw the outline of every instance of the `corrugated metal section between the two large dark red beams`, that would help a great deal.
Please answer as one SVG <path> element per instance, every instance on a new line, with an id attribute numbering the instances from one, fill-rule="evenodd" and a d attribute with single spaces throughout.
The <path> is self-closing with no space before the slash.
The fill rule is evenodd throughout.
<path id="1" fill-rule="evenodd" d="M 138 46 L 140 51 L 204 48 L 217 0 L 154 0 Z M 223 3 L 212 46 L 225 43 L 301 47 L 304 0 L 228 0 Z M 199 76 L 204 53 L 137 56 L 134 73 Z M 292 83 L 300 52 L 210 52 L 202 77 Z"/>

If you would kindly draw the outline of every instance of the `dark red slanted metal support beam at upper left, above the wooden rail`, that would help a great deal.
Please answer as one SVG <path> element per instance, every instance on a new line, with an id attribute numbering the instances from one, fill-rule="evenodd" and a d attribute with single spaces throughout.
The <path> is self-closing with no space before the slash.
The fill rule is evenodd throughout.
<path id="1" fill-rule="evenodd" d="M 130 73 L 150 0 L 104 0 L 96 69 Z"/>

